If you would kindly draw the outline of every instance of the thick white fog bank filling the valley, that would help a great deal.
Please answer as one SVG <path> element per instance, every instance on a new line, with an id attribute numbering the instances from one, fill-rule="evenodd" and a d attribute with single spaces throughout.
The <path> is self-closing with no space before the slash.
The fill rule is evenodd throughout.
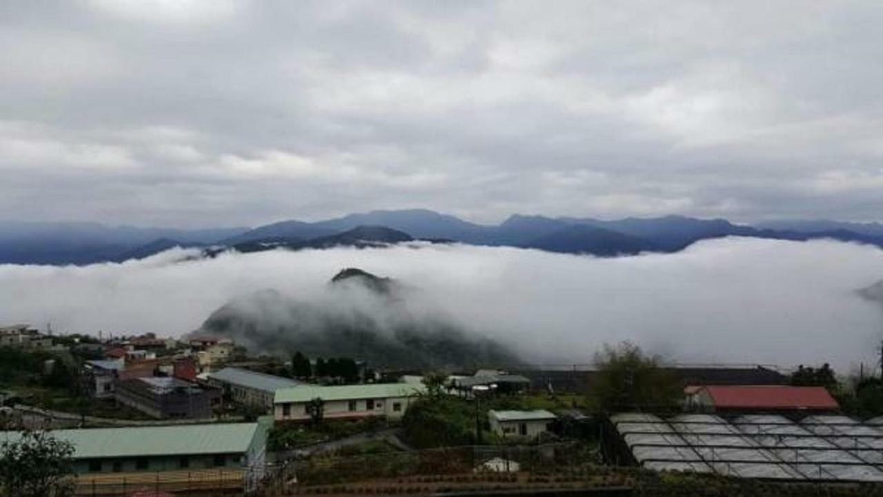
<path id="1" fill-rule="evenodd" d="M 88 267 L 0 266 L 0 324 L 183 335 L 231 298 L 275 289 L 336 305 L 343 267 L 396 278 L 413 313 L 442 313 L 536 364 L 587 364 L 631 340 L 680 362 L 873 364 L 883 251 L 832 241 L 726 238 L 674 254 L 597 259 L 464 245 L 226 253 Z"/>

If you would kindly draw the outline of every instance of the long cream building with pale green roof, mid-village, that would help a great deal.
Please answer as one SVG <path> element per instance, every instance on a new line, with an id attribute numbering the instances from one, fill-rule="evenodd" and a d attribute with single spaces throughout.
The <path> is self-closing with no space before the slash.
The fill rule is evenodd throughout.
<path id="1" fill-rule="evenodd" d="M 408 406 L 424 391 L 426 388 L 423 385 L 408 383 L 338 387 L 301 385 L 276 391 L 273 414 L 277 421 L 308 420 L 308 404 L 319 398 L 322 400 L 323 418 L 326 419 L 372 416 L 397 419 L 404 416 Z"/>

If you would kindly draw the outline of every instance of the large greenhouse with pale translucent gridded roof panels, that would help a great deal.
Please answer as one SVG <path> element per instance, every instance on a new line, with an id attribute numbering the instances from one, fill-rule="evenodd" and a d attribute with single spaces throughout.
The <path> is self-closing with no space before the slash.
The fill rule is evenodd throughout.
<path id="1" fill-rule="evenodd" d="M 652 470 L 711 472 L 742 478 L 883 481 L 883 425 L 845 416 L 722 418 L 615 414 L 605 451 L 616 462 Z"/>

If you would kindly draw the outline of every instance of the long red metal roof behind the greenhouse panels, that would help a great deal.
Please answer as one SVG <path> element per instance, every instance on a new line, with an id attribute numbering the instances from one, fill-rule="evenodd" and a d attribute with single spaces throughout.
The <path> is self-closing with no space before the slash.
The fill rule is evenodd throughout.
<path id="1" fill-rule="evenodd" d="M 840 407 L 824 387 L 742 385 L 703 389 L 716 408 L 833 410 Z"/>

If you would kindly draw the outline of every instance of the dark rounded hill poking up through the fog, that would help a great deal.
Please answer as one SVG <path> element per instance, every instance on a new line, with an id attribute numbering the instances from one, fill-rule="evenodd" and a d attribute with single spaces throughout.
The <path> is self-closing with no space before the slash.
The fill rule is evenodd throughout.
<path id="1" fill-rule="evenodd" d="M 413 290 L 357 268 L 328 285 L 328 298 L 300 300 L 278 290 L 234 299 L 196 332 L 229 337 L 252 352 L 287 357 L 347 356 L 377 367 L 429 368 L 517 365 L 499 343 L 473 335 L 442 314 L 412 314 Z"/>

